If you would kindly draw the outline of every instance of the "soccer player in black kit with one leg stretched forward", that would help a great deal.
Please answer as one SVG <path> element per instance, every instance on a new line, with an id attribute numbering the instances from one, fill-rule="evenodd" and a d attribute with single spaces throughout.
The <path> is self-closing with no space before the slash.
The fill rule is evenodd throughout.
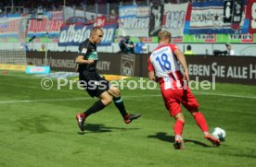
<path id="1" fill-rule="evenodd" d="M 91 97 L 97 97 L 96 101 L 84 113 L 77 113 L 77 124 L 82 131 L 84 131 L 84 121 L 92 113 L 96 113 L 104 109 L 111 101 L 114 101 L 115 106 L 122 114 L 125 124 L 130 124 L 134 119 L 141 116 L 138 114 L 129 114 L 126 112 L 124 103 L 120 95 L 120 89 L 109 84 L 109 81 L 102 78 L 96 72 L 96 63 L 98 55 L 96 52 L 96 44 L 100 43 L 103 38 L 103 30 L 100 28 L 93 28 L 91 30 L 90 38 L 86 39 L 79 46 L 79 54 L 76 57 L 76 63 L 79 65 L 79 79 L 83 84 L 83 88 L 89 93 Z"/>

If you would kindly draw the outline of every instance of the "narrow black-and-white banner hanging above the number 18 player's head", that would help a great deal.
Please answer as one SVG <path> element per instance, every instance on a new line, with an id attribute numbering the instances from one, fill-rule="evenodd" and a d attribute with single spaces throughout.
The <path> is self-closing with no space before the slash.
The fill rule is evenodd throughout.
<path id="1" fill-rule="evenodd" d="M 149 22 L 149 36 L 158 36 L 161 30 L 163 19 L 163 6 L 151 6 L 150 22 Z"/>

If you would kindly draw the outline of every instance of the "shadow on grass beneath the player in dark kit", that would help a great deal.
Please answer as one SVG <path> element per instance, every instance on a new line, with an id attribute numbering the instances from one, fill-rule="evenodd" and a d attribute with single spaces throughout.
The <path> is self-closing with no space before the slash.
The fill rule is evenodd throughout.
<path id="1" fill-rule="evenodd" d="M 84 133 L 104 133 L 104 132 L 112 132 L 112 130 L 134 130 L 139 128 L 124 128 L 124 127 L 109 127 L 106 125 L 100 124 L 85 124 L 83 125 L 84 131 L 78 132 L 78 134 L 83 135 Z"/>

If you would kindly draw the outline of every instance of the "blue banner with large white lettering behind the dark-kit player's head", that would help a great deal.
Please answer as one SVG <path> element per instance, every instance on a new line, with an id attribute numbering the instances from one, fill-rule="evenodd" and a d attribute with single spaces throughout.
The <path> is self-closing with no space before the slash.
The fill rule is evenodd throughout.
<path id="1" fill-rule="evenodd" d="M 108 24 L 102 28 L 104 36 L 101 45 L 110 45 L 115 36 L 117 24 Z M 59 32 L 59 46 L 78 46 L 90 37 L 93 25 L 63 25 Z"/>

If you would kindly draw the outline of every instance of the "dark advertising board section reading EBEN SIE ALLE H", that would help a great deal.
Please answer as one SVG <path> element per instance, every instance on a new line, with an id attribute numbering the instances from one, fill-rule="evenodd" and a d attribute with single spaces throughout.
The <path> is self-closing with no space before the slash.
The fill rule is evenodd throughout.
<path id="1" fill-rule="evenodd" d="M 229 56 L 187 57 L 191 79 L 212 80 L 225 83 L 256 84 L 256 58 Z"/>

